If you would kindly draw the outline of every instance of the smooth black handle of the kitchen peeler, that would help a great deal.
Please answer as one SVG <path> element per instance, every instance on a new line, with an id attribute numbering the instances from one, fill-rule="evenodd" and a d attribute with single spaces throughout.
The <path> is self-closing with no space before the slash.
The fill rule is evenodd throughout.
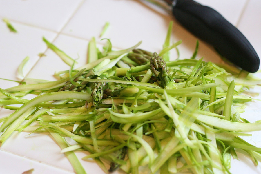
<path id="1" fill-rule="evenodd" d="M 174 0 L 173 15 L 233 64 L 251 73 L 259 69 L 259 57 L 247 38 L 213 8 L 193 0 Z"/>

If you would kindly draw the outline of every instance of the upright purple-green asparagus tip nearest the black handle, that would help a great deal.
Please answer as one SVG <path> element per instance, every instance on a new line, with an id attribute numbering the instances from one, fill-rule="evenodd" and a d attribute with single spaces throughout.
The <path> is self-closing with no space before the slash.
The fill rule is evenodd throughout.
<path id="1" fill-rule="evenodd" d="M 172 89 L 173 81 L 169 77 L 166 62 L 156 52 L 151 57 L 150 68 L 163 88 Z"/>

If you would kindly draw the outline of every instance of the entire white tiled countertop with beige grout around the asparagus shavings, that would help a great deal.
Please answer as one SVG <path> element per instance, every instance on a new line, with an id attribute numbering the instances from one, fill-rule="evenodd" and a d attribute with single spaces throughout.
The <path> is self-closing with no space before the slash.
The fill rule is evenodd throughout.
<path id="1" fill-rule="evenodd" d="M 258 55 L 261 55 L 260 0 L 198 0 L 198 2 L 215 8 L 233 24 L 239 21 L 238 28 L 253 44 Z M 88 40 L 94 36 L 97 42 L 100 42 L 99 34 L 107 21 L 110 22 L 110 26 L 104 38 L 111 39 L 115 48 L 128 48 L 142 40 L 140 48 L 154 52 L 161 50 L 168 23 L 173 20 L 160 8 L 138 0 L 0 0 L 0 18 L 2 17 L 10 19 L 18 30 L 17 34 L 11 33 L 0 21 L 0 78 L 13 80 L 16 79 L 18 65 L 26 56 L 30 56 L 30 61 L 24 73 L 33 67 L 28 75 L 30 78 L 55 80 L 52 76 L 55 71 L 69 69 L 69 66 L 52 50 L 46 51 L 43 36 L 50 42 L 54 41 L 58 48 L 73 59 L 79 57 L 77 59 L 79 63 L 75 65 L 77 68 L 86 63 Z M 62 28 L 64 29 L 59 33 Z M 183 43 L 178 47 L 180 58 L 191 57 L 196 37 L 184 30 L 175 20 L 172 36 L 173 42 L 182 39 Z M 40 52 L 44 52 L 46 56 L 39 59 L 37 55 Z M 174 51 L 173 57 L 175 56 Z M 200 57 L 204 57 L 206 61 L 221 62 L 213 48 L 202 41 L 198 52 L 198 58 Z M 16 83 L 0 80 L 1 88 L 14 85 Z M 260 89 L 254 91 L 261 92 Z M 251 103 L 246 110 L 247 112 L 242 114 L 245 118 L 253 122 L 260 119 L 258 102 Z M 10 113 L 12 111 L 0 109 L 0 117 Z M 27 134 L 12 134 L 0 148 L 0 168 L 5 168 L 5 173 L 22 173 L 30 168 L 35 168 L 34 174 L 73 172 L 68 160 L 60 153 L 60 148 L 47 134 L 25 137 Z M 248 140 L 260 147 L 259 134 L 260 132 L 254 133 Z M 77 153 L 77 155 L 82 157 L 84 154 Z M 232 160 L 232 173 L 261 172 L 260 165 L 253 166 L 245 155 L 239 154 L 239 158 L 241 162 Z M 94 163 L 83 162 L 83 165 L 87 173 L 103 173 Z"/>

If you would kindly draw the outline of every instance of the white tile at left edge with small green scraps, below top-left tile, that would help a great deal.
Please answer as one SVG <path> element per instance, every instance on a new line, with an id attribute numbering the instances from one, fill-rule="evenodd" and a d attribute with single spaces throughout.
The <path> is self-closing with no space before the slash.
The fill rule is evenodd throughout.
<path id="1" fill-rule="evenodd" d="M 13 21 L 10 22 L 18 31 L 17 33 L 10 32 L 6 24 L 0 20 L 0 78 L 17 80 L 17 68 L 23 59 L 27 56 L 30 57 L 23 71 L 26 75 L 39 59 L 38 54 L 47 49 L 42 37 L 45 36 L 52 41 L 57 34 Z M 0 79 L 0 88 L 8 88 L 11 85 L 17 84 Z"/>

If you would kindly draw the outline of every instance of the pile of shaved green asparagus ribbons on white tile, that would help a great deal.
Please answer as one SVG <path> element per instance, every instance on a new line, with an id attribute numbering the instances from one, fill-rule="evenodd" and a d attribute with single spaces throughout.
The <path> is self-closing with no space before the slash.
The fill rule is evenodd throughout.
<path id="1" fill-rule="evenodd" d="M 100 51 L 93 39 L 90 62 L 78 69 L 44 41 L 71 68 L 56 73 L 57 81 L 0 89 L 0 105 L 15 110 L 0 118 L 1 144 L 14 131 L 49 132 L 77 174 L 86 173 L 77 150 L 88 151 L 82 160 L 92 158 L 105 173 L 137 174 L 141 166 L 144 173 L 230 173 L 238 149 L 256 164 L 261 159 L 261 148 L 240 138 L 261 130 L 260 122 L 240 117 L 253 100 L 244 91 L 260 84 L 251 74 L 237 78 L 197 60 L 197 48 L 191 59 L 169 61 L 181 42 L 169 44 L 168 36 L 158 54 L 137 49 L 140 43 L 113 51 L 110 40 Z M 36 97 L 22 98 L 28 94 Z"/>

